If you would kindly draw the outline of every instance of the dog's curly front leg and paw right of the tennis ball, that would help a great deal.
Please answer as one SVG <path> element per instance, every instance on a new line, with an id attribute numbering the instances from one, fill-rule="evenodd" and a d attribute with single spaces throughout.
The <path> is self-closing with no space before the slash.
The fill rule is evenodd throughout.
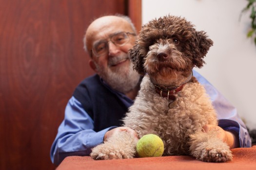
<path id="1" fill-rule="evenodd" d="M 190 151 L 204 162 L 226 162 L 232 160 L 229 146 L 217 137 L 216 132 L 196 132 L 190 136 Z"/>

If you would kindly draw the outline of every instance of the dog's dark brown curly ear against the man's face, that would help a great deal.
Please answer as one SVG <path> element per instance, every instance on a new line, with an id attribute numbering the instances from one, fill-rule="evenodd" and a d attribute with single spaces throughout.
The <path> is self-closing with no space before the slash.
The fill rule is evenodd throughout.
<path id="1" fill-rule="evenodd" d="M 133 69 L 135 69 L 139 74 L 145 75 L 145 70 L 143 66 L 144 57 L 140 52 L 140 46 L 138 44 L 138 41 L 136 41 L 135 46 L 131 50 L 129 50 L 129 57 L 134 64 Z"/>

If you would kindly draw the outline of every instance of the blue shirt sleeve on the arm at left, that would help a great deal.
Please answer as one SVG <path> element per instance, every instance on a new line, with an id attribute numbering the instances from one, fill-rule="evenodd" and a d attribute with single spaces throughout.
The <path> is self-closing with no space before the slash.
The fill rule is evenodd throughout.
<path id="1" fill-rule="evenodd" d="M 67 103 L 64 120 L 51 147 L 52 162 L 59 165 L 67 156 L 89 155 L 93 147 L 103 143 L 105 133 L 113 128 L 95 132 L 93 120 L 81 103 L 72 97 Z"/>

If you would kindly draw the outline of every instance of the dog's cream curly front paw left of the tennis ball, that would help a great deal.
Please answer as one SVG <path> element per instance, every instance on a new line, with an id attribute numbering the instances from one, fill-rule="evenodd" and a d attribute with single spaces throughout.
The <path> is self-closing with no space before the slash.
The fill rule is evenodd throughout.
<path id="1" fill-rule="evenodd" d="M 138 139 L 128 132 L 118 132 L 109 137 L 106 142 L 92 149 L 93 159 L 125 159 L 136 154 Z"/>

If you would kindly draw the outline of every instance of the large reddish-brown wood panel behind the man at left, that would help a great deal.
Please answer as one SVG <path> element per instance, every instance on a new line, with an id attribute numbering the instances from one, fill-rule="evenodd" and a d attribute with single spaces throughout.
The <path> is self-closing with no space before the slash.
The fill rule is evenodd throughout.
<path id="1" fill-rule="evenodd" d="M 1 170 L 56 168 L 50 147 L 65 105 L 79 82 L 93 74 L 82 47 L 84 30 L 95 17 L 127 14 L 127 4 L 0 0 Z"/>

